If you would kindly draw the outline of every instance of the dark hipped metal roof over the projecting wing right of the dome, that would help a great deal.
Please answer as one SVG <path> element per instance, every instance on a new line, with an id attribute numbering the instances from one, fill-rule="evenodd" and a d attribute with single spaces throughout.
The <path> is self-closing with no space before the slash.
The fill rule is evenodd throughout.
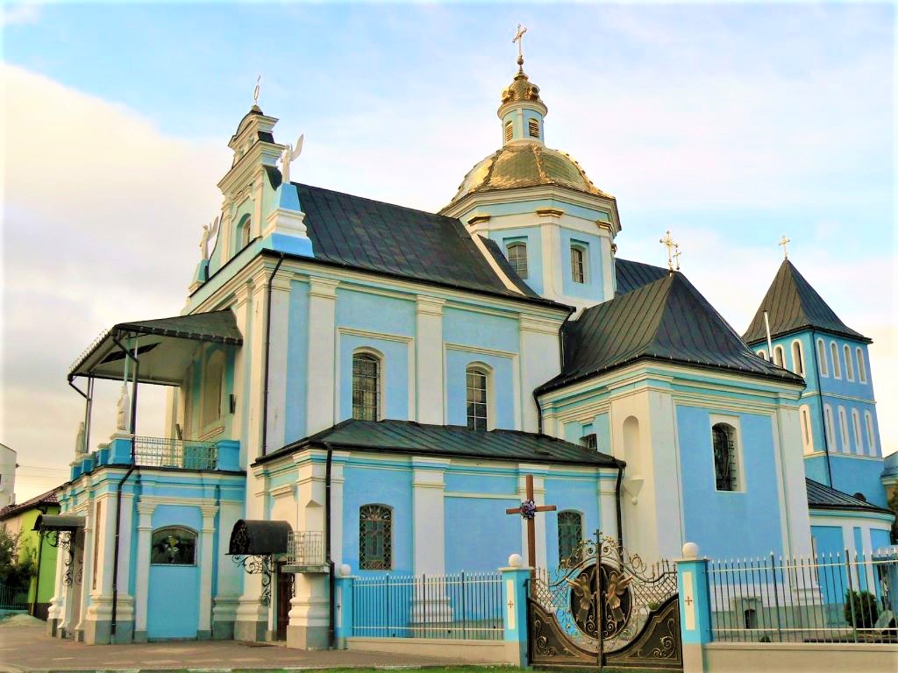
<path id="1" fill-rule="evenodd" d="M 586 309 L 565 325 L 562 338 L 562 371 L 537 392 L 644 358 L 804 383 L 754 354 L 679 272 Z"/>

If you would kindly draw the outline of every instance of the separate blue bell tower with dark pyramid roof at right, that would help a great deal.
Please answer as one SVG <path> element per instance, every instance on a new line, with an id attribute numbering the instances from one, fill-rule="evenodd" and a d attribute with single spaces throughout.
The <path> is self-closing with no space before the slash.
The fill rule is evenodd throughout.
<path id="1" fill-rule="evenodd" d="M 806 380 L 798 410 L 806 475 L 885 507 L 867 356 L 872 340 L 842 322 L 788 258 L 743 338 L 764 359 Z"/>

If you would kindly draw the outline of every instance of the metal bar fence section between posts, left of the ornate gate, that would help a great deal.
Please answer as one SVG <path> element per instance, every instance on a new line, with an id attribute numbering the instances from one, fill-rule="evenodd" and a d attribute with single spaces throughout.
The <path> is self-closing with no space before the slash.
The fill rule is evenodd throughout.
<path id="1" fill-rule="evenodd" d="M 498 572 L 357 577 L 353 635 L 380 638 L 502 640 Z"/>

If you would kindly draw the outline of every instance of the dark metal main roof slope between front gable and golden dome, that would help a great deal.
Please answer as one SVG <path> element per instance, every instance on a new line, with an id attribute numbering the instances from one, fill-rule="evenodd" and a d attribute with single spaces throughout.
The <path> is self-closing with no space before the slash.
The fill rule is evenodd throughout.
<path id="1" fill-rule="evenodd" d="M 266 167 L 272 188 L 281 184 Z M 509 290 L 453 217 L 426 213 L 370 198 L 292 183 L 305 214 L 315 259 L 413 281 L 450 285 L 543 303 L 515 272 L 503 271 L 522 293 Z M 526 288 L 526 289 L 524 289 Z"/>

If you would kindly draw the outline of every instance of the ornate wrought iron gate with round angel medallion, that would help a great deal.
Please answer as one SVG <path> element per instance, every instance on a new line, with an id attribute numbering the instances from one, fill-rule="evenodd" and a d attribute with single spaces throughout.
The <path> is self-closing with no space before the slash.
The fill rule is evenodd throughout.
<path id="1" fill-rule="evenodd" d="M 527 602 L 532 664 L 682 670 L 676 571 L 667 561 L 647 566 L 597 532 L 558 569 L 537 572 Z"/>

